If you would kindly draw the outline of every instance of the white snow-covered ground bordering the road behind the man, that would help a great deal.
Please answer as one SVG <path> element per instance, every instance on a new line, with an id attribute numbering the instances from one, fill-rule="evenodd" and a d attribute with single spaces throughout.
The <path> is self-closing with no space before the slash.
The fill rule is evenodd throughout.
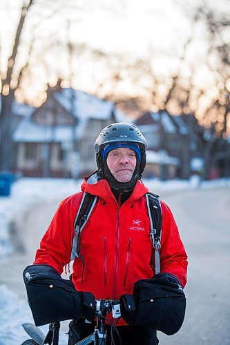
<path id="1" fill-rule="evenodd" d="M 71 179 L 19 179 L 12 185 L 10 197 L 0 197 L 0 262 L 1 258 L 10 255 L 13 246 L 10 243 L 10 223 L 25 213 L 28 208 L 37 203 L 52 199 L 63 199 L 79 190 L 81 181 Z M 215 186 L 230 186 L 230 179 L 205 181 L 198 179 L 190 181 L 158 181 L 145 180 L 144 183 L 155 193 L 184 188 L 213 188 Z M 3 274 L 3 273 L 1 273 Z M 26 333 L 21 324 L 32 322 L 28 304 L 24 300 L 0 285 L 0 345 L 19 345 L 26 339 Z M 47 329 L 46 326 L 44 327 Z M 61 333 L 60 344 L 66 344 L 66 335 Z"/>

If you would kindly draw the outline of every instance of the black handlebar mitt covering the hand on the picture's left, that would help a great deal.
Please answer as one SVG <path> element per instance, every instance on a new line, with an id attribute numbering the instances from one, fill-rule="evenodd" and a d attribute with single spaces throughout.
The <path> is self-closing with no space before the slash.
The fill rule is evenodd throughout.
<path id="1" fill-rule="evenodd" d="M 62 279 L 55 268 L 48 265 L 27 266 L 23 279 L 36 326 L 81 317 L 90 321 L 93 319 L 93 294 L 78 292 L 73 282 Z"/>

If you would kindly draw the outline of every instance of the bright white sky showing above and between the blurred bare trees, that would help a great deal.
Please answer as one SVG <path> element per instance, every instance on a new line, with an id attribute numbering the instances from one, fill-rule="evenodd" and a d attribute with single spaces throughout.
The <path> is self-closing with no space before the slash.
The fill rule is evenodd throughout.
<path id="1" fill-rule="evenodd" d="M 226 12 L 226 6 L 223 6 L 226 0 L 188 0 L 186 6 L 193 8 L 195 4 L 204 2 L 218 10 L 223 8 Z M 6 66 L 6 57 L 12 48 L 12 37 L 15 34 L 21 3 L 23 0 L 0 1 L 1 66 L 3 67 Z M 192 32 L 189 21 L 191 13 L 189 10 L 185 14 L 182 10 L 184 4 L 182 0 L 59 0 L 55 1 L 55 8 L 58 10 L 54 11 L 52 0 L 36 0 L 33 14 L 26 22 L 23 35 L 23 41 L 28 46 L 32 28 L 37 28 L 34 43 L 37 57 L 32 58 L 32 84 L 26 84 L 26 92 L 31 98 L 35 97 L 37 92 L 41 92 L 41 88 L 44 88 L 42 81 L 47 75 L 52 82 L 57 71 L 60 75 L 69 75 L 71 70 L 79 71 L 73 86 L 87 92 L 95 92 L 98 84 L 106 79 L 108 71 L 101 65 L 95 68 L 95 61 L 90 60 L 87 55 L 84 55 L 82 60 L 77 57 L 70 62 L 62 46 L 59 46 L 60 48 L 52 46 L 56 39 L 65 41 L 66 37 L 78 45 L 84 43 L 110 55 L 123 55 L 129 61 L 137 57 L 148 57 L 151 48 L 156 73 L 162 77 L 170 74 L 177 69 L 177 58 L 182 52 L 182 43 Z M 46 21 L 40 20 L 41 15 L 45 15 Z M 70 29 L 67 28 L 68 21 Z M 199 32 L 192 33 L 199 34 Z M 43 53 L 44 49 L 46 55 Z M 195 49 L 190 52 L 191 59 L 204 55 L 206 49 L 207 46 L 198 39 Z M 19 65 L 23 64 L 27 53 L 25 46 L 20 48 Z M 41 70 L 44 64 L 48 65 L 48 68 Z M 183 72 L 184 75 L 188 75 L 189 69 L 185 68 Z M 215 86 L 205 68 L 200 69 L 198 79 L 201 84 L 206 83 L 213 88 Z M 126 82 L 123 90 L 130 90 L 137 96 L 138 93 L 144 92 L 144 86 L 141 84 L 140 87 L 139 84 L 133 86 Z"/>

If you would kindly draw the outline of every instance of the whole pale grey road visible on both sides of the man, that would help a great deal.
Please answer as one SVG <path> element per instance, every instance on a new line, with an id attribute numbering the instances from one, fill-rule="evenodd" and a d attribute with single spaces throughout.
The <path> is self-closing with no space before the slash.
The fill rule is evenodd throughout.
<path id="1" fill-rule="evenodd" d="M 156 193 L 171 207 L 189 255 L 185 321 L 176 335 L 159 333 L 160 345 L 229 345 L 230 188 Z M 23 216 L 14 234 L 18 250 L 0 262 L 6 272 L 0 284 L 7 284 L 20 297 L 26 298 L 21 272 L 32 263 L 57 204 L 38 205 Z"/>

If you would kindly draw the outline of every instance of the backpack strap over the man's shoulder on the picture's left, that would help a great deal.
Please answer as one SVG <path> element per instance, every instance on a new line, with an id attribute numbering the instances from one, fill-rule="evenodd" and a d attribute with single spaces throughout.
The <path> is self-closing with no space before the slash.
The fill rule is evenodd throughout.
<path id="1" fill-rule="evenodd" d="M 93 211 L 93 208 L 97 202 L 97 196 L 91 195 L 89 193 L 84 192 L 82 197 L 81 204 L 77 211 L 77 215 L 74 222 L 75 228 L 75 235 L 73 237 L 73 244 L 72 244 L 72 253 L 70 260 L 74 260 L 75 257 L 81 257 L 80 255 L 80 234 L 82 229 L 86 225 L 90 214 Z"/>

